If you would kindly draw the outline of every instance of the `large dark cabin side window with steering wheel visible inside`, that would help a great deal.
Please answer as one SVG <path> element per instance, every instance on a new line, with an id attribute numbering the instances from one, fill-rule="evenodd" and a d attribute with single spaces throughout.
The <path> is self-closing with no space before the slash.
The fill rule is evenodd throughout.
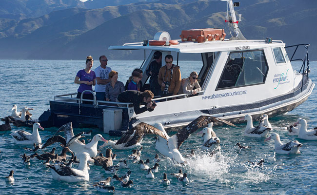
<path id="1" fill-rule="evenodd" d="M 231 52 L 216 90 L 264 83 L 267 72 L 263 50 Z"/>

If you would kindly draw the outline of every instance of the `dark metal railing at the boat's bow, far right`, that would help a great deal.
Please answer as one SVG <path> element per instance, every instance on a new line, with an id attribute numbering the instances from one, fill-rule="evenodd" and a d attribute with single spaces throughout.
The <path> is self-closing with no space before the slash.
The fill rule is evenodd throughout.
<path id="1" fill-rule="evenodd" d="M 301 80 L 301 91 L 303 91 L 304 76 L 306 75 L 306 77 L 308 78 L 308 72 L 309 72 L 308 49 L 309 49 L 309 45 L 310 44 L 303 43 L 303 44 L 297 44 L 297 45 L 291 45 L 291 46 L 285 47 L 285 48 L 296 47 L 295 50 L 294 50 L 294 53 L 292 55 L 292 58 L 290 59 L 290 61 L 298 61 L 298 60 L 302 61 L 302 65 L 300 67 L 300 70 L 298 71 L 299 73 L 302 71 L 301 74 L 303 75 L 303 78 Z M 305 47 L 305 49 L 306 49 L 305 57 L 304 57 L 304 59 L 293 59 L 299 46 L 304 46 Z"/>

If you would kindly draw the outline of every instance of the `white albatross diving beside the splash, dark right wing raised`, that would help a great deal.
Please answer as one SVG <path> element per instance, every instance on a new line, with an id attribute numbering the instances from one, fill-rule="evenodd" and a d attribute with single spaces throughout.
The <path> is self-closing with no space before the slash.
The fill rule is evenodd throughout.
<path id="1" fill-rule="evenodd" d="M 217 117 L 212 116 L 200 116 L 196 118 L 194 121 L 183 127 L 181 130 L 179 130 L 175 135 L 172 137 L 169 137 L 163 128 L 163 125 L 161 123 L 156 123 L 154 126 L 157 127 L 159 130 L 161 130 L 165 137 L 167 139 L 162 139 L 161 137 L 158 137 L 158 140 L 156 142 L 155 148 L 164 156 L 168 156 L 175 160 L 178 163 L 184 163 L 185 159 L 183 156 L 179 153 L 178 149 L 181 146 L 181 144 L 195 131 L 197 131 L 199 128 L 211 123 L 211 122 L 223 122 L 225 124 L 236 126 L 232 124 L 231 122 L 228 122 L 226 120 L 222 120 Z"/>

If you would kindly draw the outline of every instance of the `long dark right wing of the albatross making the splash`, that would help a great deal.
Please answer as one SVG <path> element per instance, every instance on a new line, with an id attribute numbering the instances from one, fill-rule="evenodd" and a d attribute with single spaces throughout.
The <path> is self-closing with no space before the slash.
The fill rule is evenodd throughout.
<path id="1" fill-rule="evenodd" d="M 183 127 L 181 130 L 179 130 L 174 136 L 173 139 L 177 139 L 177 145 L 175 146 L 177 149 L 179 149 L 180 145 L 195 131 L 197 131 L 199 128 L 206 126 L 207 124 L 211 122 L 223 122 L 227 125 L 236 126 L 232 124 L 231 122 L 228 122 L 226 120 L 223 120 L 221 118 L 212 117 L 212 116 L 200 116 L 196 118 L 194 121 Z"/>

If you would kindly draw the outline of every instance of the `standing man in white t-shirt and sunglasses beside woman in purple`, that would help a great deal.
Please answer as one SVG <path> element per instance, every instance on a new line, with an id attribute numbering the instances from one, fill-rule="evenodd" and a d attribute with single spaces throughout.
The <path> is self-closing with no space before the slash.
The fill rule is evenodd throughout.
<path id="1" fill-rule="evenodd" d="M 104 101 L 105 100 L 105 90 L 106 84 L 110 82 L 109 73 L 111 72 L 111 68 L 107 66 L 108 59 L 106 56 L 102 55 L 99 57 L 100 66 L 95 69 L 96 73 L 96 98 L 97 100 Z"/>

